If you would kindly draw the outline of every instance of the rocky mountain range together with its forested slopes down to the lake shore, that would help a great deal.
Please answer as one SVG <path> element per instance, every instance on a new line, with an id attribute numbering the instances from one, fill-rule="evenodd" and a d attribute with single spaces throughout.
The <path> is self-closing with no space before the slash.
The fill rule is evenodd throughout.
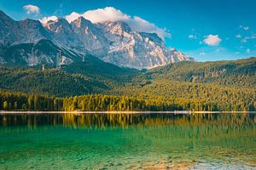
<path id="1" fill-rule="evenodd" d="M 74 111 L 86 99 L 90 111 L 102 102 L 108 111 L 256 110 L 256 58 L 194 62 L 154 33 L 82 17 L 42 25 L 0 11 L 0 36 L 0 106 L 10 110 L 32 110 L 34 100 L 40 108 L 68 101 Z"/>

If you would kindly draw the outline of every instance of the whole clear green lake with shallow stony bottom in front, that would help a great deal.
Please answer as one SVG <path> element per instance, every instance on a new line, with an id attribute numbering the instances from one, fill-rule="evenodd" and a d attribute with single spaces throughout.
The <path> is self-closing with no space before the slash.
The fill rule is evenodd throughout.
<path id="1" fill-rule="evenodd" d="M 256 169 L 256 115 L 0 115 L 0 169 L 170 168 Z"/>

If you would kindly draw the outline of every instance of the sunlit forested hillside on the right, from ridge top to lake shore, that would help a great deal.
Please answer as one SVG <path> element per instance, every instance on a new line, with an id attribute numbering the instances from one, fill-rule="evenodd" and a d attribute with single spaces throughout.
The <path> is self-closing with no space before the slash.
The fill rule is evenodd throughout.
<path id="1" fill-rule="evenodd" d="M 177 104 L 195 111 L 255 111 L 255 87 L 256 58 L 183 61 L 138 74 L 108 94 L 148 99 L 163 108 Z"/>

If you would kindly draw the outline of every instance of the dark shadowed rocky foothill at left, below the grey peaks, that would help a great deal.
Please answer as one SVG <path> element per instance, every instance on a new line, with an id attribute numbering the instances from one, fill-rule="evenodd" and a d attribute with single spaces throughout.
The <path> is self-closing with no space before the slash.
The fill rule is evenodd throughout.
<path id="1" fill-rule="evenodd" d="M 59 51 L 65 57 L 58 59 Z M 67 48 L 56 46 L 50 40 L 42 39 L 36 43 L 19 43 L 2 49 L 3 64 L 7 65 L 51 65 L 57 62 L 69 65 L 74 60 L 81 60 L 82 55 Z"/>

